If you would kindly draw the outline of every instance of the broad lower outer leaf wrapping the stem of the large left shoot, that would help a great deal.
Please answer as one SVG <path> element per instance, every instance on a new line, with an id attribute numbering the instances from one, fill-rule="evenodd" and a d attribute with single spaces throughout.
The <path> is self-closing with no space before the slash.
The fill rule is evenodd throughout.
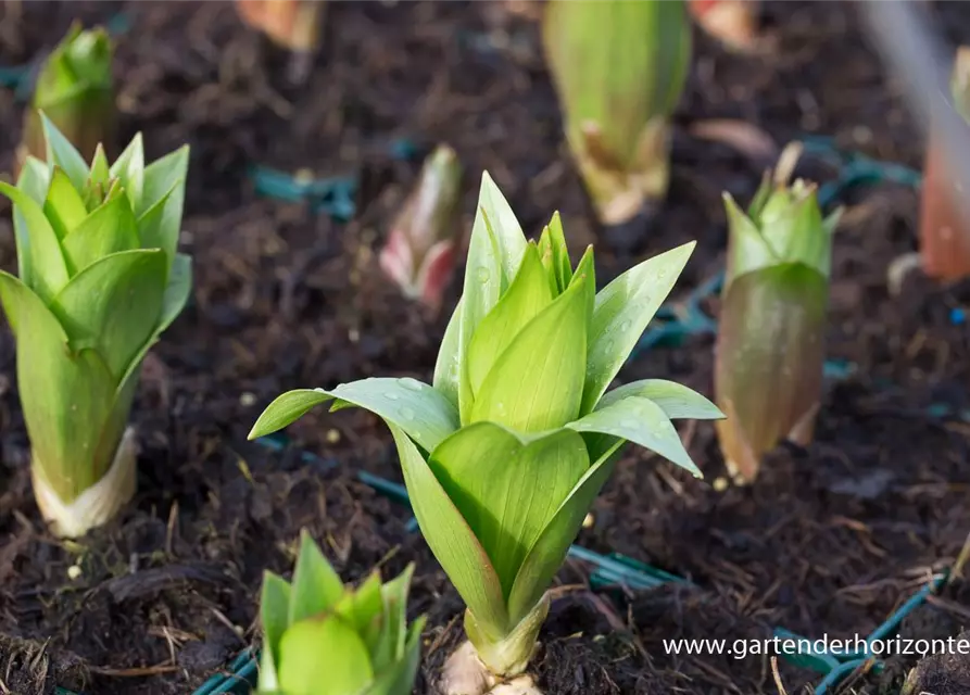
<path id="1" fill-rule="evenodd" d="M 115 379 L 97 352 L 68 351 L 54 315 L 8 273 L 0 273 L 0 301 L 17 339 L 17 383 L 34 465 L 71 502 L 101 479 L 117 447 L 105 427 Z"/>

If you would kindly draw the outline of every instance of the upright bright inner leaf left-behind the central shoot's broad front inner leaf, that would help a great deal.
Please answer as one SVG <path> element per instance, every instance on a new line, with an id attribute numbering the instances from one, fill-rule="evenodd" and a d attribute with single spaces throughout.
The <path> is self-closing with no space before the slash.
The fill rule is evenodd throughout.
<path id="1" fill-rule="evenodd" d="M 549 280 L 534 244 L 526 247 L 522 263 L 508 291 L 481 320 L 465 356 L 471 393 L 477 396 L 492 365 L 525 326 L 553 301 Z"/>

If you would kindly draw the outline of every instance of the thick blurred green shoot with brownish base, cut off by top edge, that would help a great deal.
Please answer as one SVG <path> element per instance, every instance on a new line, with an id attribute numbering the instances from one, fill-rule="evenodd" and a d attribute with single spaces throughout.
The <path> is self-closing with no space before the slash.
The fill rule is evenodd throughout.
<path id="1" fill-rule="evenodd" d="M 542 39 L 597 215 L 628 222 L 667 194 L 669 118 L 691 60 L 684 0 L 551 0 Z"/>

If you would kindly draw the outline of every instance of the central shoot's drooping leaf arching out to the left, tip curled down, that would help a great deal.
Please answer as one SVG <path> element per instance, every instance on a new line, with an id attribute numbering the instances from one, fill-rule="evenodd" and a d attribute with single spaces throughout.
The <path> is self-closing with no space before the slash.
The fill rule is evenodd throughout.
<path id="1" fill-rule="evenodd" d="M 285 393 L 256 420 L 249 438 L 275 432 L 302 417 L 311 408 L 338 399 L 331 410 L 347 404 L 370 410 L 388 424 L 394 424 L 431 451 L 458 429 L 458 414 L 448 399 L 415 379 L 371 378 L 341 383 L 331 391 L 301 389 Z"/>

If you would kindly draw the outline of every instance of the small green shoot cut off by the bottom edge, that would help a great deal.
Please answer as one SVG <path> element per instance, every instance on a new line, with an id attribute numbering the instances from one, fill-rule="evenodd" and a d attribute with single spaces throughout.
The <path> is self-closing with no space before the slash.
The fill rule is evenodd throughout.
<path id="1" fill-rule="evenodd" d="M 260 695 L 408 695 L 425 626 L 407 626 L 413 573 L 344 586 L 303 531 L 292 583 L 263 577 Z"/>

